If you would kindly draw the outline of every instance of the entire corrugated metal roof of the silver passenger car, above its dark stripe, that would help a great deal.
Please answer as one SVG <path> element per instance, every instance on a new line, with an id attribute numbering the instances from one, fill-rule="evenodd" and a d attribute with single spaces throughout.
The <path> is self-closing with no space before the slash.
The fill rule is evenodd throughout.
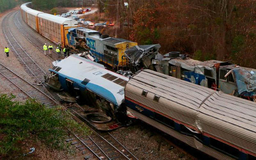
<path id="1" fill-rule="evenodd" d="M 142 90 L 148 94 L 142 96 Z M 153 101 L 155 94 L 160 96 Z M 199 132 L 256 155 L 256 103 L 143 70 L 126 85 L 126 98 Z"/>

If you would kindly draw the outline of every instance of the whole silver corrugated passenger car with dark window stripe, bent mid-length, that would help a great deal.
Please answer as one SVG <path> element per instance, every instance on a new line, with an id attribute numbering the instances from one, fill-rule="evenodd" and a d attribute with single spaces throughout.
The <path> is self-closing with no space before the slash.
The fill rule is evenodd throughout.
<path id="1" fill-rule="evenodd" d="M 151 70 L 125 87 L 135 117 L 219 160 L 255 160 L 256 103 Z"/>

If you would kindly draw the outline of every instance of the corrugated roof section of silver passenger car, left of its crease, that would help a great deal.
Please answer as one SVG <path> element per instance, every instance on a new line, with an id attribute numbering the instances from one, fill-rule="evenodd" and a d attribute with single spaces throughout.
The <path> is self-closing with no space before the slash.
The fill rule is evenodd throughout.
<path id="1" fill-rule="evenodd" d="M 146 97 L 142 96 L 143 89 L 149 91 Z M 197 128 L 195 120 L 201 103 L 213 93 L 212 89 L 148 69 L 133 76 L 125 88 L 127 98 L 194 129 Z M 160 96 L 158 102 L 153 101 L 155 94 Z"/>

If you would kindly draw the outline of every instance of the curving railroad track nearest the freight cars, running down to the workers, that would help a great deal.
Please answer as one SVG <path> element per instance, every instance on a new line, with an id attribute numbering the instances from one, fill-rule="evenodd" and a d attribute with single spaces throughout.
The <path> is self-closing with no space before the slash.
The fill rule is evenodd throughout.
<path id="1" fill-rule="evenodd" d="M 21 13 L 20 11 L 17 11 L 14 15 L 14 24 L 16 25 L 16 27 L 18 28 L 19 32 L 21 32 L 23 34 L 24 37 L 27 38 L 28 41 L 30 41 L 31 44 L 33 44 L 33 46 L 35 46 L 38 50 L 40 50 L 43 54 L 43 45 L 45 44 L 45 42 L 41 41 L 40 39 L 37 39 L 35 37 L 34 34 L 38 34 L 38 33 L 32 33 L 30 30 L 27 29 L 27 27 L 30 27 L 26 24 L 26 27 L 21 24 L 22 20 L 21 20 Z M 57 53 L 55 52 L 55 49 L 57 48 L 57 46 L 54 47 L 54 49 L 52 50 L 52 54 L 49 55 L 48 54 L 48 50 L 47 50 L 47 55 L 50 57 L 51 60 L 57 60 L 59 59 L 59 57 L 57 56 Z M 62 54 L 62 53 L 61 53 Z M 64 55 L 61 55 L 60 58 L 64 58 Z"/>

